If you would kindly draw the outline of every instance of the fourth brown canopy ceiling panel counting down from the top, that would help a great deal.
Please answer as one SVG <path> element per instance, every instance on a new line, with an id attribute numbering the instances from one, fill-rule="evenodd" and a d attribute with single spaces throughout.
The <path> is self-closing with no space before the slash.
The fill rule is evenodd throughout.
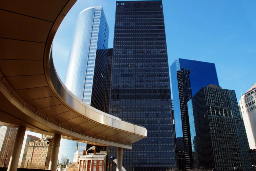
<path id="1" fill-rule="evenodd" d="M 43 75 L 43 60 L 0 60 L 0 70 L 4 76 Z"/>

